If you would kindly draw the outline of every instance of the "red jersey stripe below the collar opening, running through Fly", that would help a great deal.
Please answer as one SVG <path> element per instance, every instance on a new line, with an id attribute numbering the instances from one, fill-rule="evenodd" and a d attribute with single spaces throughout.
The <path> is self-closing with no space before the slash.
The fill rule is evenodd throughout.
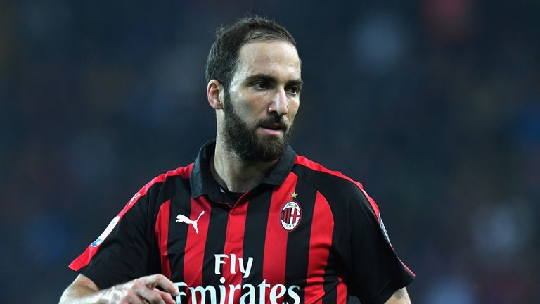
<path id="1" fill-rule="evenodd" d="M 225 264 L 223 265 L 223 277 L 225 278 L 225 284 L 238 286 L 238 289 L 231 288 L 227 290 L 226 303 L 231 303 L 231 299 L 234 299 L 232 303 L 239 303 L 240 296 L 242 296 L 242 277 L 243 273 L 240 272 L 240 262 L 243 265 L 247 265 L 248 257 L 243 258 L 243 246 L 244 246 L 244 233 L 245 233 L 245 221 L 248 215 L 249 202 L 246 201 L 248 195 L 244 195 L 233 206 L 229 212 L 229 221 L 227 224 L 227 234 L 225 236 L 225 245 L 223 253 L 226 255 L 224 258 Z M 229 293 L 233 293 L 231 296 Z"/>

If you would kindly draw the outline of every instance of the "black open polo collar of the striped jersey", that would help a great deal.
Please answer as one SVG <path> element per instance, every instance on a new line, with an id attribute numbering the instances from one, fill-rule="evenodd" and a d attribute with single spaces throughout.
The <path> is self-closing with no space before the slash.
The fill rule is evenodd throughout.
<path id="1" fill-rule="evenodd" d="M 221 191 L 221 187 L 212 176 L 212 172 L 210 172 L 210 158 L 214 155 L 215 150 L 216 141 L 207 142 L 200 148 L 199 156 L 193 164 L 189 177 L 193 198 L 207 195 L 211 201 L 223 201 L 223 191 Z M 281 185 L 289 175 L 290 170 L 293 169 L 295 156 L 296 153 L 293 148 L 287 146 L 278 163 L 259 184 Z"/>

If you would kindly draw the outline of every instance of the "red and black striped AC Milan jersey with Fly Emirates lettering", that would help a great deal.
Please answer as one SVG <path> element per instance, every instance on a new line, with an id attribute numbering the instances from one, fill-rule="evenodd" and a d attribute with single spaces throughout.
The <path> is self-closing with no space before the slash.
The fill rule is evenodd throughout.
<path id="1" fill-rule="evenodd" d="M 70 268 L 101 289 L 162 273 L 193 304 L 384 303 L 413 281 L 359 182 L 288 147 L 229 203 L 214 147 L 144 186 Z"/>

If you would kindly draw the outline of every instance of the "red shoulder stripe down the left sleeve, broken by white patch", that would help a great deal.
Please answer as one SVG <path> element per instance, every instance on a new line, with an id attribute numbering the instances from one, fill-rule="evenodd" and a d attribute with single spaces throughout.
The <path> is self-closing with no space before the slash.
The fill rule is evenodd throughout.
<path id="1" fill-rule="evenodd" d="M 167 177 L 171 177 L 175 175 L 180 175 L 183 178 L 188 178 L 191 173 L 192 168 L 193 168 L 193 163 L 191 163 L 191 165 L 188 165 L 187 167 L 179 167 L 176 170 L 169 171 L 166 174 L 159 175 L 158 177 L 155 177 L 154 179 L 152 179 L 148 184 L 143 186 L 143 188 L 141 188 L 141 190 L 139 190 L 139 192 L 137 192 L 131 198 L 131 200 L 129 200 L 129 202 L 124 206 L 124 208 L 120 211 L 120 213 L 118 213 L 117 215 L 117 217 L 119 217 L 118 222 L 122 220 L 122 217 L 124 216 L 124 214 L 126 214 L 131 208 L 133 208 L 133 206 L 141 199 L 141 197 L 146 196 L 150 187 L 154 186 L 155 184 L 165 181 Z M 79 255 L 79 257 L 77 257 L 75 260 L 73 260 L 73 262 L 71 262 L 69 267 L 72 270 L 78 271 L 82 267 L 85 267 L 86 265 L 88 265 L 92 257 L 94 257 L 96 252 L 98 252 L 100 246 L 101 246 L 101 243 L 95 247 L 89 245 L 86 248 L 86 250 L 81 255 Z"/>

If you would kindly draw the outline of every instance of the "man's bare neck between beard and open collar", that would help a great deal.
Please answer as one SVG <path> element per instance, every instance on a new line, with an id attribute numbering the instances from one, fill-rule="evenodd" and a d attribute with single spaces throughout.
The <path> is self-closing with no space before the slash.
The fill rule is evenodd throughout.
<path id="1" fill-rule="evenodd" d="M 216 151 L 210 159 L 210 171 L 218 184 L 231 192 L 247 192 L 268 174 L 278 160 L 248 162 L 226 149 L 223 141 L 216 140 Z"/>

